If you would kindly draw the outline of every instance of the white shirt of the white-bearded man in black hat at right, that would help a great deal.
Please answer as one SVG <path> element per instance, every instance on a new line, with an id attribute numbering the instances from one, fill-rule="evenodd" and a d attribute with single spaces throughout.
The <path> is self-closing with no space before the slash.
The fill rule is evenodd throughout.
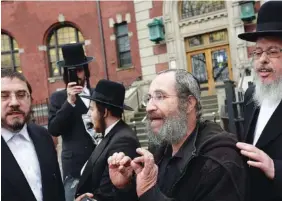
<path id="1" fill-rule="evenodd" d="M 267 122 L 269 121 L 272 114 L 278 107 L 280 101 L 277 101 L 276 103 L 273 104 L 270 103 L 267 99 L 263 100 L 259 111 L 253 145 L 256 145 L 256 143 L 258 142 L 263 129 L 265 128 Z"/>

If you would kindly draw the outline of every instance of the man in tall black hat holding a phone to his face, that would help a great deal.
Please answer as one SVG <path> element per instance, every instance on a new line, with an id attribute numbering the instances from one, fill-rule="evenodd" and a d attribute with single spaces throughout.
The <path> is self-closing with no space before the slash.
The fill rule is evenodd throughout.
<path id="1" fill-rule="evenodd" d="M 87 133 L 82 114 L 89 108 L 89 100 L 78 94 L 91 94 L 88 63 L 81 44 L 62 47 L 64 60 L 57 62 L 64 68 L 66 89 L 50 97 L 48 130 L 53 136 L 62 136 L 62 169 L 66 201 L 73 201 L 80 170 L 95 148 Z"/>

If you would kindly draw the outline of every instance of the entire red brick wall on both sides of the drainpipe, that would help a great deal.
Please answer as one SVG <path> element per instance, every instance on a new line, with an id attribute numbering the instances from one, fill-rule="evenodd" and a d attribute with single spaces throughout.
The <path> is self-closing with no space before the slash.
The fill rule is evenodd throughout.
<path id="1" fill-rule="evenodd" d="M 118 4 L 118 5 L 117 5 Z M 59 14 L 63 14 L 66 22 L 71 22 L 82 33 L 84 39 L 90 39 L 91 44 L 86 46 L 86 54 L 94 56 L 91 62 L 91 85 L 105 78 L 103 66 L 101 40 L 98 28 L 96 2 L 2 2 L 2 31 L 8 32 L 18 42 L 24 53 L 20 54 L 20 63 L 23 74 L 32 85 L 35 100 L 48 98 L 57 88 L 64 87 L 62 80 L 48 82 L 48 56 L 46 51 L 39 51 L 38 46 L 46 45 L 46 38 L 55 24 Z M 110 41 L 113 30 L 109 28 L 108 18 L 116 13 L 131 13 L 132 23 L 128 25 L 133 32 L 130 39 L 132 50 L 133 69 L 117 72 L 115 41 Z M 131 84 L 141 75 L 140 58 L 137 44 L 135 14 L 133 2 L 101 2 L 103 28 L 105 35 L 106 54 L 108 61 L 109 78 L 116 81 L 126 81 Z"/>

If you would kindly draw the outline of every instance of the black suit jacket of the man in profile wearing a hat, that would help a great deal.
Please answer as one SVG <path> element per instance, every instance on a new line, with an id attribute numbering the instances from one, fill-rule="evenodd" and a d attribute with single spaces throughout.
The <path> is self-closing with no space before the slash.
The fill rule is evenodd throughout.
<path id="1" fill-rule="evenodd" d="M 136 134 L 127 124 L 120 120 L 91 154 L 80 178 L 76 197 L 91 192 L 98 201 L 126 201 L 131 196 L 134 196 L 134 187 L 123 194 L 113 186 L 109 177 L 107 160 L 115 152 L 123 152 L 133 159 L 137 156 L 136 149 L 138 147 L 140 147 L 140 144 Z M 124 195 L 125 197 L 123 197 Z"/>

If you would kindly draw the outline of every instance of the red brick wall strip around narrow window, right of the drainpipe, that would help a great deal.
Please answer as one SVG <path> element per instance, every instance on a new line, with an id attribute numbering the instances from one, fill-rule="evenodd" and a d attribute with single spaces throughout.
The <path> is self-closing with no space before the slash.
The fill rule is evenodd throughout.
<path id="1" fill-rule="evenodd" d="M 109 69 L 109 78 L 123 82 L 124 85 L 130 85 L 137 77 L 142 75 L 141 63 L 139 56 L 139 45 L 136 32 L 136 20 L 134 4 L 132 1 L 101 1 L 102 20 L 105 35 L 105 46 L 107 47 L 107 64 Z M 128 22 L 128 32 L 132 32 L 133 35 L 129 37 L 131 57 L 132 57 L 132 68 L 127 70 L 118 69 L 118 58 L 116 41 L 110 40 L 110 36 L 115 33 L 114 28 L 109 26 L 109 19 L 112 18 L 115 22 L 116 14 L 122 16 L 122 20 L 125 21 L 125 16 L 130 13 L 131 22 Z"/>

